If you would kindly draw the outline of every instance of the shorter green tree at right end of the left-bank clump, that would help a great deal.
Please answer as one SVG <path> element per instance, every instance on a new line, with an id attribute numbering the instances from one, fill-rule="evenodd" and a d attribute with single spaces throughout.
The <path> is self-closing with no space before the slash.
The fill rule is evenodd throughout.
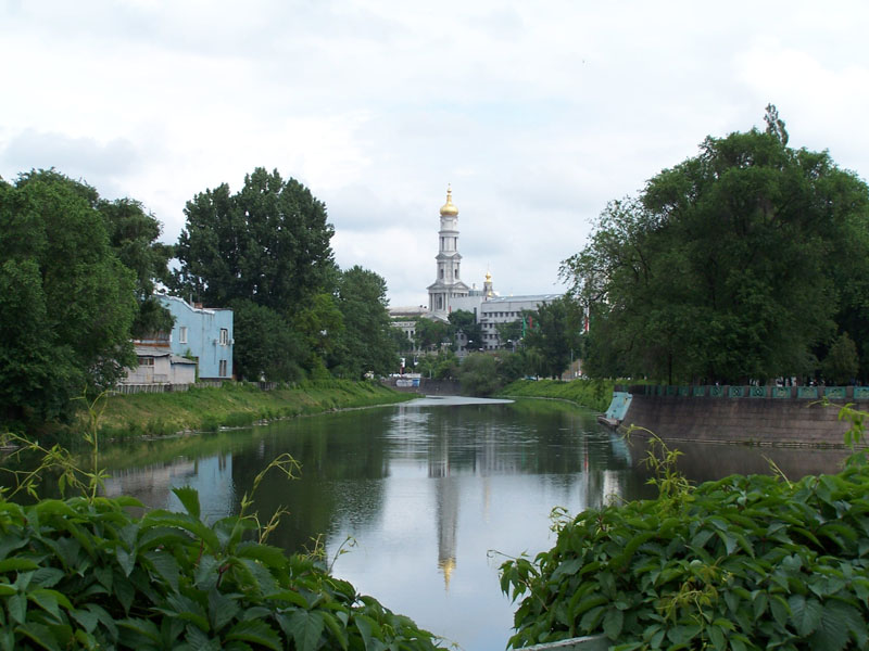
<path id="1" fill-rule="evenodd" d="M 399 365 L 387 309 L 387 283 L 358 265 L 338 281 L 338 308 L 344 322 L 342 373 L 360 379 L 364 373 L 386 375 Z"/>

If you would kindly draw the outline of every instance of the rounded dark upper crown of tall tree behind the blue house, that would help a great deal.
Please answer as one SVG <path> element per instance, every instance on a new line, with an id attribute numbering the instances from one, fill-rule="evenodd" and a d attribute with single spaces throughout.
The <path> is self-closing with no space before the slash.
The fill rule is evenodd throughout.
<path id="1" fill-rule="evenodd" d="M 257 167 L 243 188 L 205 190 L 187 203 L 174 288 L 210 305 L 243 298 L 288 317 L 333 268 L 326 206 L 295 179 Z"/>

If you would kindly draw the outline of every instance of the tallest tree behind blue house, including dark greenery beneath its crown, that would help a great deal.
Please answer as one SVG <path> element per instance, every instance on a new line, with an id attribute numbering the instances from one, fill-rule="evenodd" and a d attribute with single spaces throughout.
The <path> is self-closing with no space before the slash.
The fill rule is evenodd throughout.
<path id="1" fill-rule="evenodd" d="M 270 348 L 265 363 L 262 342 L 237 329 L 236 368 L 269 380 L 324 369 L 329 346 L 319 332 L 327 330 L 331 339 L 339 333 L 316 322 L 326 318 L 317 297 L 333 292 L 337 275 L 323 202 L 295 179 L 260 167 L 236 193 L 224 183 L 197 194 L 185 215 L 173 290 L 213 306 L 241 302 L 244 326 L 255 332 L 277 328 L 274 337 L 287 342 Z"/>

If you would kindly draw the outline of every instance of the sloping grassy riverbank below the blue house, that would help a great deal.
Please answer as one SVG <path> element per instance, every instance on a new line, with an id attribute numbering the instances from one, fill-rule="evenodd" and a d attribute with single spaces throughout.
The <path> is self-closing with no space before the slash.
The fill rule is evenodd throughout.
<path id="1" fill-rule="evenodd" d="M 306 382 L 273 391 L 226 382 L 222 388 L 115 395 L 105 400 L 100 434 L 123 438 L 162 436 L 184 430 L 214 432 L 222 426 L 242 426 L 260 420 L 331 409 L 388 405 L 413 397 L 416 396 L 394 392 L 378 383 L 347 380 Z"/>

